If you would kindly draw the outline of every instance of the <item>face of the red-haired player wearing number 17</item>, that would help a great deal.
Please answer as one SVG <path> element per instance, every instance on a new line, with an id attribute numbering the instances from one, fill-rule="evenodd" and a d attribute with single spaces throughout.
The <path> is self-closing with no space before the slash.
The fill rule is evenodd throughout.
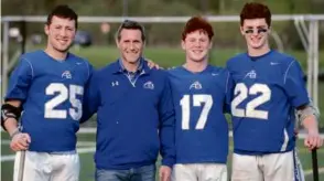
<path id="1" fill-rule="evenodd" d="M 182 49 L 185 51 L 186 58 L 194 62 L 202 62 L 206 58 L 212 42 L 208 34 L 202 30 L 196 30 L 186 34 L 182 41 Z"/>

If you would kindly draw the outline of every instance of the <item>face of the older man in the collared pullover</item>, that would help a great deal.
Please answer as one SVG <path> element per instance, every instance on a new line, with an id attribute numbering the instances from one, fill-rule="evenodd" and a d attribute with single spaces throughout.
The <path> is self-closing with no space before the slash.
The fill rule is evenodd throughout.
<path id="1" fill-rule="evenodd" d="M 128 63 L 136 63 L 139 61 L 144 47 L 144 42 L 141 38 L 142 33 L 140 30 L 121 30 L 120 40 L 116 40 L 116 44 L 123 61 Z"/>

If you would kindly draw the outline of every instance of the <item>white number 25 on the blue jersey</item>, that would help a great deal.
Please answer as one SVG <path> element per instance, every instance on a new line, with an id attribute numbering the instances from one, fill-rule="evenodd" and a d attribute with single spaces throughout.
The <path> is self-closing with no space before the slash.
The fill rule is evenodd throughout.
<path id="1" fill-rule="evenodd" d="M 84 87 L 78 85 L 69 85 L 69 88 L 67 88 L 64 84 L 52 83 L 46 87 L 45 94 L 54 95 L 55 93 L 58 94 L 45 103 L 45 118 L 65 119 L 68 111 L 69 116 L 74 120 L 79 120 L 83 114 L 83 105 L 76 96 L 84 94 Z M 67 99 L 69 99 L 72 108 L 68 110 L 55 109 L 56 106 L 63 102 L 66 102 Z"/>

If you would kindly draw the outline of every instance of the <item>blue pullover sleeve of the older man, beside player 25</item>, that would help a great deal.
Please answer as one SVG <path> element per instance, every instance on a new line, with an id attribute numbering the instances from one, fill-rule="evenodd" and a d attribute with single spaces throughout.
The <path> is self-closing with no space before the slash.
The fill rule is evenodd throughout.
<path id="1" fill-rule="evenodd" d="M 97 113 L 100 103 L 99 88 L 97 86 L 97 72 L 93 66 L 89 66 L 89 78 L 85 85 L 80 123 L 87 121 L 95 113 Z"/>

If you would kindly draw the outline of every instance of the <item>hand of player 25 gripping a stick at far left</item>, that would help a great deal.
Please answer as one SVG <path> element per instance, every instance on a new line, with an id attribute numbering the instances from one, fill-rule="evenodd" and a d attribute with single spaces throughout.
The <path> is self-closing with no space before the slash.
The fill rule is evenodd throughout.
<path id="1" fill-rule="evenodd" d="M 26 150 L 31 143 L 31 137 L 29 134 L 19 132 L 14 135 L 10 142 L 10 148 L 13 151 Z"/>

